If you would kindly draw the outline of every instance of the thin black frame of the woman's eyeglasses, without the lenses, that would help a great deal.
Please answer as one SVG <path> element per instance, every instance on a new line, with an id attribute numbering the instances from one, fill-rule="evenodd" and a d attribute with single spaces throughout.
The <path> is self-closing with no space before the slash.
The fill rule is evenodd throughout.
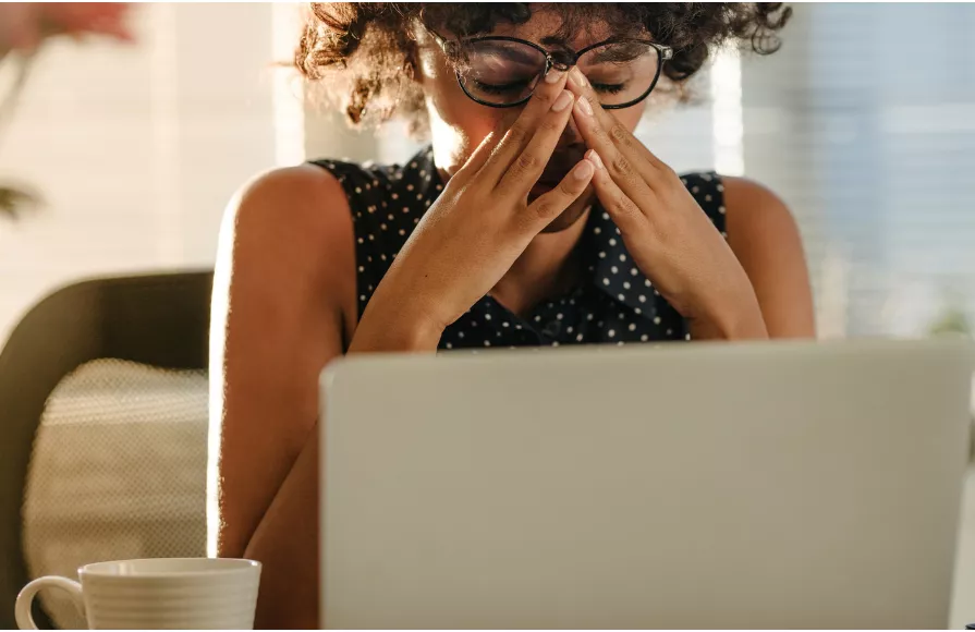
<path id="1" fill-rule="evenodd" d="M 617 105 L 609 105 L 609 106 L 599 104 L 599 106 L 604 110 L 623 110 L 625 108 L 632 108 L 633 106 L 645 100 L 648 96 L 650 96 L 650 93 L 654 92 L 654 88 L 657 87 L 657 82 L 660 81 L 660 73 L 663 72 L 663 62 L 673 59 L 673 48 L 671 48 L 669 46 L 665 46 L 662 44 L 657 44 L 656 41 L 650 41 L 649 39 L 639 39 L 639 38 L 634 38 L 634 37 L 611 37 L 607 40 L 598 41 L 592 46 L 587 46 L 581 50 L 568 50 L 566 49 L 564 51 L 560 51 L 563 53 L 569 53 L 569 56 L 571 56 L 572 63 L 566 64 L 566 63 L 557 61 L 554 59 L 554 56 L 552 54 L 552 52 L 543 48 L 540 45 L 535 44 L 534 41 L 528 41 L 527 39 L 521 39 L 519 37 L 509 37 L 507 35 L 486 35 L 483 37 L 468 37 L 468 38 L 464 38 L 462 40 L 448 40 L 448 39 L 441 37 L 440 34 L 438 34 L 436 31 L 432 31 L 430 28 L 427 28 L 426 31 L 430 35 L 434 36 L 434 39 L 437 41 L 437 45 L 440 47 L 440 49 L 443 51 L 443 53 L 447 54 L 448 57 L 454 56 L 458 52 L 456 48 L 459 48 L 463 45 L 477 44 L 479 41 L 513 41 L 516 44 L 525 44 L 527 46 L 531 46 L 532 48 L 534 48 L 535 50 L 537 50 L 538 52 L 540 52 L 541 54 L 545 56 L 545 70 L 541 72 L 541 74 L 538 75 L 539 78 L 547 75 L 552 69 L 556 69 L 558 71 L 563 71 L 563 72 L 571 69 L 572 66 L 574 66 L 578 63 L 578 60 L 582 56 L 584 56 L 585 53 L 589 52 L 590 50 L 593 50 L 595 48 L 599 48 L 600 46 L 608 46 L 610 44 L 633 42 L 633 44 L 648 45 L 651 48 L 656 49 L 657 50 L 657 73 L 654 75 L 654 81 L 650 82 L 650 87 L 647 88 L 647 92 L 645 92 L 643 95 L 641 95 L 636 99 L 633 99 L 625 104 L 617 104 Z M 453 49 L 453 50 L 449 50 L 449 49 Z M 485 100 L 482 100 L 482 99 L 475 97 L 467 90 L 467 87 L 464 85 L 464 82 L 461 78 L 461 71 L 459 69 L 454 70 L 454 74 L 456 75 L 456 78 L 458 78 L 458 85 L 461 86 L 461 89 L 464 90 L 464 94 L 467 96 L 467 98 L 470 98 L 472 101 L 474 101 L 476 104 L 480 104 L 482 106 L 487 106 L 489 108 L 516 108 L 517 106 L 528 102 L 528 99 L 531 99 L 532 95 L 535 94 L 535 88 L 533 87 L 532 93 L 527 97 L 525 97 L 519 101 L 515 101 L 513 104 L 491 104 L 489 101 L 485 101 Z"/>

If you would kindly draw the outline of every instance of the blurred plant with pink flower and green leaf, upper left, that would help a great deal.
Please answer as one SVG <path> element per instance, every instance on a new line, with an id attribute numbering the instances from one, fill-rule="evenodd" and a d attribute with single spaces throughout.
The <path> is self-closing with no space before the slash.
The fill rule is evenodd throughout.
<path id="1" fill-rule="evenodd" d="M 10 124 L 17 98 L 44 45 L 53 37 L 81 40 L 100 35 L 132 41 L 125 24 L 127 3 L 108 2 L 3 2 L 0 3 L 0 135 Z M 0 217 L 16 218 L 39 198 L 23 187 L 0 183 Z"/>

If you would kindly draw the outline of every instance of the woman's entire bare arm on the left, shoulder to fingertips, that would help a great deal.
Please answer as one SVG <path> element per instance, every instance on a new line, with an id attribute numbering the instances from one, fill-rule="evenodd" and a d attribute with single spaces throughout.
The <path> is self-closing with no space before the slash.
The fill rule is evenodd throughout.
<path id="1" fill-rule="evenodd" d="M 231 205 L 214 290 L 211 446 L 220 461 L 210 471 L 219 555 L 264 563 L 258 627 L 319 621 L 319 372 L 343 340 L 356 353 L 436 350 L 446 324 L 588 185 L 593 170 L 582 161 L 528 203 L 569 121 L 564 81 L 536 89 L 512 132 L 489 136 L 451 178 L 357 325 L 352 220 L 331 175 L 275 172 Z"/>

